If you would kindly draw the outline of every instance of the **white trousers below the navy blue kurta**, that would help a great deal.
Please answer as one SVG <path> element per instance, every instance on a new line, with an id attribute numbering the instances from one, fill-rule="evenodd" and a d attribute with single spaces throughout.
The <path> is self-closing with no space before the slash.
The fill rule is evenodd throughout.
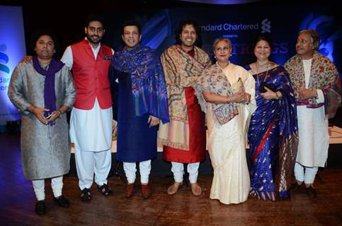
<path id="1" fill-rule="evenodd" d="M 123 169 L 127 177 L 128 184 L 135 182 L 135 173 L 137 172 L 137 166 L 135 162 L 123 162 Z M 149 183 L 149 172 L 151 172 L 151 160 L 145 160 L 139 162 L 140 182 L 142 184 Z"/>

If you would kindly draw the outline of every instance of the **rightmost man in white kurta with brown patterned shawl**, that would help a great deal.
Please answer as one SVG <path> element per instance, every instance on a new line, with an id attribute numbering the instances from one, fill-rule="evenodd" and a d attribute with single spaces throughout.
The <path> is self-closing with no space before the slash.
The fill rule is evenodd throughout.
<path id="1" fill-rule="evenodd" d="M 297 103 L 299 143 L 292 191 L 303 182 L 310 198 L 317 196 L 314 178 L 318 167 L 324 167 L 328 157 L 328 118 L 334 117 L 341 95 L 336 86 L 336 66 L 319 54 L 316 30 L 303 30 L 297 39 L 297 55 L 289 59 L 289 72 Z"/>

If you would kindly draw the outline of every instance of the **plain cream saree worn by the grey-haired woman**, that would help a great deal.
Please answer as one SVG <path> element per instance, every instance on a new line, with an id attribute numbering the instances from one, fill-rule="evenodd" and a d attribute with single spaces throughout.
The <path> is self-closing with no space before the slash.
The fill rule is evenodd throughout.
<path id="1" fill-rule="evenodd" d="M 246 93 L 251 94 L 249 105 L 239 104 L 239 114 L 227 124 L 214 121 L 210 103 L 207 103 L 207 148 L 214 169 L 210 198 L 221 203 L 242 203 L 249 196 L 249 169 L 246 161 L 246 137 L 251 114 L 256 109 L 255 81 L 241 66 L 229 64 L 222 69 L 229 83 L 241 78 Z"/>

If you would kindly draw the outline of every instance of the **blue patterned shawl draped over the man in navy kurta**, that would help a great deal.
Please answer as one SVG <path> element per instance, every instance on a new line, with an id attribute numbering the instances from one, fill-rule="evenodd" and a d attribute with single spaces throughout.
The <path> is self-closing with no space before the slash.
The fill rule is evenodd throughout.
<path id="1" fill-rule="evenodd" d="M 169 107 L 163 70 L 153 49 L 137 46 L 115 52 L 111 64 L 118 71 L 130 73 L 135 114 L 152 114 L 169 122 Z"/>

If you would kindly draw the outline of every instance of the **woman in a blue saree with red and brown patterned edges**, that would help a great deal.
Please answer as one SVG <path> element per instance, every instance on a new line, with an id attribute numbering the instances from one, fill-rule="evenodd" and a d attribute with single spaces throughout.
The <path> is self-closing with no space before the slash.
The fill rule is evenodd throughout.
<path id="1" fill-rule="evenodd" d="M 270 61 L 270 40 L 260 36 L 256 62 L 246 69 L 256 80 L 257 109 L 249 125 L 250 194 L 267 201 L 290 197 L 297 154 L 297 112 L 287 71 Z"/>

